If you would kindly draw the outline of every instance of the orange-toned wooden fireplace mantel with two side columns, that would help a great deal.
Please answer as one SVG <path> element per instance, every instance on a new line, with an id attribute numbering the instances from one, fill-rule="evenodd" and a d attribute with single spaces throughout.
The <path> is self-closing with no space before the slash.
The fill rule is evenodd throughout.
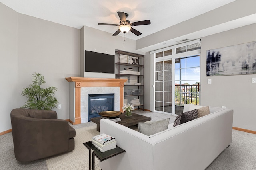
<path id="1" fill-rule="evenodd" d="M 75 122 L 81 123 L 81 87 L 120 87 L 120 111 L 124 104 L 124 82 L 128 79 L 67 77 L 68 82 L 75 82 Z"/>

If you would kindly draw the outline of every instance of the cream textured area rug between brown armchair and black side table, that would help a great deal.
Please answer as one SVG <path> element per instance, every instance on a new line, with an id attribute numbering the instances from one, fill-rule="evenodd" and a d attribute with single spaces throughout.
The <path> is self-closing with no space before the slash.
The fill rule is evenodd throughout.
<path id="1" fill-rule="evenodd" d="M 83 145 L 98 135 L 96 124 L 76 129 L 75 150 L 46 159 L 48 170 L 88 170 L 89 150 Z M 100 170 L 99 160 L 95 158 L 95 170 Z"/>

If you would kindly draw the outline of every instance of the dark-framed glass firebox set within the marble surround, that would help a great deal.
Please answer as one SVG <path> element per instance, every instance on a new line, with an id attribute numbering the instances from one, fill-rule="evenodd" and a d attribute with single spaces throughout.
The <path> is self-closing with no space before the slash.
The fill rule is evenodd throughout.
<path id="1" fill-rule="evenodd" d="M 114 93 L 88 94 L 88 122 L 102 111 L 114 110 Z"/>

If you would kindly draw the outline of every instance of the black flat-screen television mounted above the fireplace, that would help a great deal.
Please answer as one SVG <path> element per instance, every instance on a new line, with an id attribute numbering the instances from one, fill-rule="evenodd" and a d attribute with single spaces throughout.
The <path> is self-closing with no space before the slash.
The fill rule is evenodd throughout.
<path id="1" fill-rule="evenodd" d="M 85 50 L 85 72 L 115 73 L 115 56 Z"/>

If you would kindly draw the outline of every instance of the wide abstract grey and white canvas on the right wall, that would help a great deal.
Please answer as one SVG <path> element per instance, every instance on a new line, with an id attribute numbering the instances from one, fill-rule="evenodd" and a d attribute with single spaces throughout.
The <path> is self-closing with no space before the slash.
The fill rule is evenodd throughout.
<path id="1" fill-rule="evenodd" d="M 206 76 L 256 74 L 256 41 L 206 53 Z"/>

